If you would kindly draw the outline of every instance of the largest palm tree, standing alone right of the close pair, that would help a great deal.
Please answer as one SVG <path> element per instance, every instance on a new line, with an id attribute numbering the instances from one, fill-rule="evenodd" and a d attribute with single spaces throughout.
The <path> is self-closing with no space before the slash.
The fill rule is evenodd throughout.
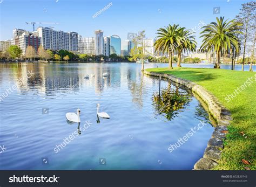
<path id="1" fill-rule="evenodd" d="M 220 68 L 220 55 L 230 51 L 234 46 L 236 50 L 239 49 L 238 38 L 236 33 L 241 33 L 241 23 L 235 22 L 235 19 L 230 21 L 224 20 L 224 17 L 216 18 L 217 22 L 212 22 L 206 26 L 203 26 L 204 30 L 200 32 L 204 37 L 203 44 L 200 50 L 203 52 L 210 52 L 213 50 L 217 53 L 218 61 L 215 63 L 214 68 Z"/>

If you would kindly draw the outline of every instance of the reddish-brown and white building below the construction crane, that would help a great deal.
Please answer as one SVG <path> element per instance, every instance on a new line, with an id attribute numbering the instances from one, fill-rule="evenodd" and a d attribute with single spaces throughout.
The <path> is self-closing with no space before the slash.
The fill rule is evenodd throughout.
<path id="1" fill-rule="evenodd" d="M 34 47 L 36 51 L 41 45 L 42 38 L 32 34 L 31 32 L 22 29 L 15 29 L 13 33 L 14 38 L 11 39 L 11 45 L 17 45 L 22 50 L 23 55 L 26 54 L 26 48 L 29 45 Z"/>

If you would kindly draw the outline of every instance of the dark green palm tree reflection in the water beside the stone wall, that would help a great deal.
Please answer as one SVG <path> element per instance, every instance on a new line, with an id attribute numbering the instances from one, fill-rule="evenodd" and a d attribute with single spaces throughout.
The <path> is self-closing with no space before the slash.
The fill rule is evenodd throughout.
<path id="1" fill-rule="evenodd" d="M 159 92 L 155 92 L 152 100 L 156 110 L 155 115 L 162 115 L 171 121 L 191 100 L 191 94 L 179 89 L 178 85 L 172 87 L 169 82 L 167 88 L 161 89 L 160 97 Z"/>

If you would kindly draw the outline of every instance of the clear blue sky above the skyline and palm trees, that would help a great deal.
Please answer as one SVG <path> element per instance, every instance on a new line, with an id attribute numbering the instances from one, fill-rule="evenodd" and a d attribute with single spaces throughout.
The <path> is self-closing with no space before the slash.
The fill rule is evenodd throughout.
<path id="1" fill-rule="evenodd" d="M 179 24 L 194 29 L 197 41 L 199 26 L 210 23 L 215 17 L 232 19 L 238 14 L 241 0 L 0 0 L 0 40 L 10 39 L 15 28 L 32 31 L 32 25 L 25 22 L 55 22 L 56 30 L 76 31 L 83 37 L 92 37 L 93 31 L 101 29 L 104 36 L 117 34 L 122 39 L 128 32 L 146 31 L 147 38 L 156 37 L 159 27 Z M 107 4 L 109 9 L 95 15 Z M 213 8 L 220 7 L 219 14 Z M 39 25 L 36 25 L 39 26 Z"/>

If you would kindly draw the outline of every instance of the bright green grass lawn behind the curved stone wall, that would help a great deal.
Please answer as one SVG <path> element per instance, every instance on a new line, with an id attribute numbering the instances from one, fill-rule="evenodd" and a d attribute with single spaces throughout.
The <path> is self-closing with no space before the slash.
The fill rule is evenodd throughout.
<path id="1" fill-rule="evenodd" d="M 217 170 L 255 170 L 256 154 L 256 73 L 213 68 L 150 68 L 146 71 L 172 74 L 204 86 L 228 108 L 233 121 L 228 126 L 225 147 Z M 253 77 L 253 78 L 252 78 Z M 251 81 L 248 78 L 252 78 Z M 247 82 L 246 82 L 247 81 Z M 249 85 L 251 82 L 251 85 Z M 242 90 L 241 85 L 246 85 Z M 227 94 L 241 92 L 228 102 Z M 226 99 L 225 99 L 226 98 Z M 231 98 L 231 97 L 230 97 Z M 242 134 L 245 134 L 244 136 Z M 209 137 L 210 138 L 210 137 Z M 250 164 L 242 163 L 245 159 Z"/>

